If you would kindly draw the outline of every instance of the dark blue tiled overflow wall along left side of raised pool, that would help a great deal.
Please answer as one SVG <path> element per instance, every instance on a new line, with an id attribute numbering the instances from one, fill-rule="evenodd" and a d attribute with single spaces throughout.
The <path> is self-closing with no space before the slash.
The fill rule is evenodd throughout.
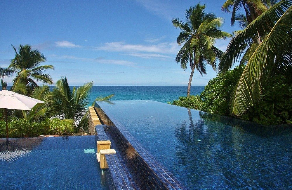
<path id="1" fill-rule="evenodd" d="M 186 189 L 167 169 L 151 156 L 122 126 L 116 126 L 95 104 L 100 120 L 110 128 L 112 137 L 124 162 L 143 189 Z M 115 122 L 117 123 L 117 122 Z"/>

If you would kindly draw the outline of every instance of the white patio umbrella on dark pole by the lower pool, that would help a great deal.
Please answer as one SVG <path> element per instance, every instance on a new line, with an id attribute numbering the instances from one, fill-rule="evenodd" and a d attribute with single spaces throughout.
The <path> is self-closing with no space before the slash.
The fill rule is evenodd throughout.
<path id="1" fill-rule="evenodd" d="M 6 117 L 6 138 L 8 138 L 8 125 L 7 125 L 7 110 L 31 110 L 37 103 L 44 103 L 38 99 L 34 99 L 16 92 L 11 92 L 4 88 L 0 91 L 0 108 L 5 109 Z"/>

